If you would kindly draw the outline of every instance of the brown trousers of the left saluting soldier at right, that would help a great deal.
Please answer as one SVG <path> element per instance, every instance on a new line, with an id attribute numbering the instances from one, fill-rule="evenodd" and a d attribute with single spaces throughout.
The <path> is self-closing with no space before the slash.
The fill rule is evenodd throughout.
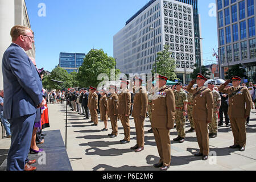
<path id="1" fill-rule="evenodd" d="M 209 134 L 208 134 L 208 124 L 207 121 L 200 121 L 193 118 L 195 130 L 196 130 L 196 137 L 197 143 L 200 148 L 200 152 L 203 155 L 209 155 Z"/>

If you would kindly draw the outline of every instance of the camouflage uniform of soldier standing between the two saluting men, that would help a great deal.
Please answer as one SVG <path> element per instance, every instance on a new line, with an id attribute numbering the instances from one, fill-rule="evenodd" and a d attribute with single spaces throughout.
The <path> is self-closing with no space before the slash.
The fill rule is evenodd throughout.
<path id="1" fill-rule="evenodd" d="M 216 90 L 212 90 L 213 94 L 213 117 L 212 122 L 209 123 L 209 133 L 217 134 L 218 132 L 218 114 L 216 113 L 218 109 L 218 101 L 221 100 L 220 93 L 218 93 Z"/>

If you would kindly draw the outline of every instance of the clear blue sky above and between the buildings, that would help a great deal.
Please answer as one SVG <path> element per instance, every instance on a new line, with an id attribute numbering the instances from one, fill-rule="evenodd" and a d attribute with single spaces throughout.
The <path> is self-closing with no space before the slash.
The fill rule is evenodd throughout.
<path id="1" fill-rule="evenodd" d="M 113 36 L 125 26 L 149 0 L 25 0 L 31 28 L 35 32 L 36 64 L 52 71 L 59 64 L 60 52 L 88 53 L 102 48 L 113 57 Z M 39 16 L 44 3 L 45 16 Z M 204 64 L 214 60 L 212 48 L 217 49 L 216 16 L 210 3 L 199 0 L 201 38 Z M 214 10 L 215 11 L 215 10 Z M 215 12 L 214 12 L 215 13 Z"/>

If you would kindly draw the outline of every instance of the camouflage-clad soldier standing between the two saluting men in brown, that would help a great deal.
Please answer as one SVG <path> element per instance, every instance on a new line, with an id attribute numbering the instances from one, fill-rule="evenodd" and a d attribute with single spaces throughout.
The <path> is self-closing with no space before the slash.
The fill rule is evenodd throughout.
<path id="1" fill-rule="evenodd" d="M 221 97 L 220 93 L 218 93 L 214 88 L 214 82 L 208 82 L 208 88 L 212 91 L 213 96 L 213 117 L 212 122 L 209 123 L 209 137 L 215 138 L 217 137 L 218 132 L 218 112 L 220 111 L 221 105 Z"/>

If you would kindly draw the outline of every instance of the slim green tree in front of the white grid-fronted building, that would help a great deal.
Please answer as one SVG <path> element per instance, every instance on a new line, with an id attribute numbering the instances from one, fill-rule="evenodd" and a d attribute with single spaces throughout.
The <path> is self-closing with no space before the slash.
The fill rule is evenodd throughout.
<path id="1" fill-rule="evenodd" d="M 156 72 L 159 75 L 164 75 L 169 77 L 169 80 L 174 81 L 177 79 L 175 69 L 176 69 L 176 62 L 171 57 L 171 52 L 168 50 L 170 46 L 164 45 L 164 49 L 161 52 L 158 52 L 158 56 L 156 58 Z M 155 64 L 153 65 L 152 74 L 155 73 Z"/>

